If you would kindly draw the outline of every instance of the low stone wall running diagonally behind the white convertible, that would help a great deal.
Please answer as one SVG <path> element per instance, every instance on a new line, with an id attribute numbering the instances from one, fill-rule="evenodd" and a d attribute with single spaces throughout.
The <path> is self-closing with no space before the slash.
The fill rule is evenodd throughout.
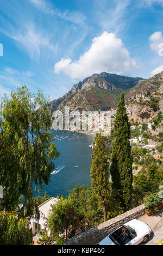
<path id="1" fill-rule="evenodd" d="M 115 218 L 109 219 L 109 221 L 103 222 L 96 227 L 72 237 L 70 240 L 66 241 L 64 245 L 97 245 L 106 235 L 109 235 L 124 223 L 131 221 L 131 219 L 139 218 L 144 214 L 145 206 L 139 205 L 122 215 L 118 215 Z"/>

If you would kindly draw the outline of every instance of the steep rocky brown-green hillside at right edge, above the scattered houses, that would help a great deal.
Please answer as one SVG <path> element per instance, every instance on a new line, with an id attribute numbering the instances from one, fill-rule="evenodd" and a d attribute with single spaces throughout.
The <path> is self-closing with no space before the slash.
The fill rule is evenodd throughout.
<path id="1" fill-rule="evenodd" d="M 126 96 L 129 119 L 149 121 L 163 112 L 163 72 L 140 81 Z"/>

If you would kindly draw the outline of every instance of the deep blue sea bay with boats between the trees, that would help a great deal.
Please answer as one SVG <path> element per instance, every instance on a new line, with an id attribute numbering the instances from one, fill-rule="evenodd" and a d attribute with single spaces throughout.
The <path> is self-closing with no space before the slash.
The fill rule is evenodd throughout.
<path id="1" fill-rule="evenodd" d="M 53 131 L 54 142 L 60 156 L 54 160 L 57 174 L 51 175 L 49 184 L 40 189 L 40 195 L 45 191 L 50 197 L 58 194 L 68 194 L 74 185 L 90 185 L 90 165 L 92 150 L 88 146 L 93 142 L 93 136 L 72 133 L 68 131 Z M 78 167 L 75 167 L 78 166 Z M 37 197 L 37 193 L 34 193 Z"/>

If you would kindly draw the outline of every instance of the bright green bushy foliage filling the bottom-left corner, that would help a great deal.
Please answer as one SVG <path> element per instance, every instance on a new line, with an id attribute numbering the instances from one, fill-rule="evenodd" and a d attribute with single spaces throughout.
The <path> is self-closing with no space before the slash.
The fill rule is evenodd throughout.
<path id="1" fill-rule="evenodd" d="M 27 218 L 15 211 L 0 212 L 0 245 L 32 245 L 32 229 Z"/>

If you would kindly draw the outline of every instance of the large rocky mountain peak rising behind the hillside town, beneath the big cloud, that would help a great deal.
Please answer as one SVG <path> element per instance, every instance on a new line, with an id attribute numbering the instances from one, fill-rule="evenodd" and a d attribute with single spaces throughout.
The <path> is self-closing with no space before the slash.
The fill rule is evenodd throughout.
<path id="1" fill-rule="evenodd" d="M 76 110 L 110 110 L 116 108 L 122 91 L 127 95 L 142 80 L 106 72 L 93 74 L 73 85 L 64 96 L 53 100 L 50 109 L 62 110 L 67 105 Z"/>

